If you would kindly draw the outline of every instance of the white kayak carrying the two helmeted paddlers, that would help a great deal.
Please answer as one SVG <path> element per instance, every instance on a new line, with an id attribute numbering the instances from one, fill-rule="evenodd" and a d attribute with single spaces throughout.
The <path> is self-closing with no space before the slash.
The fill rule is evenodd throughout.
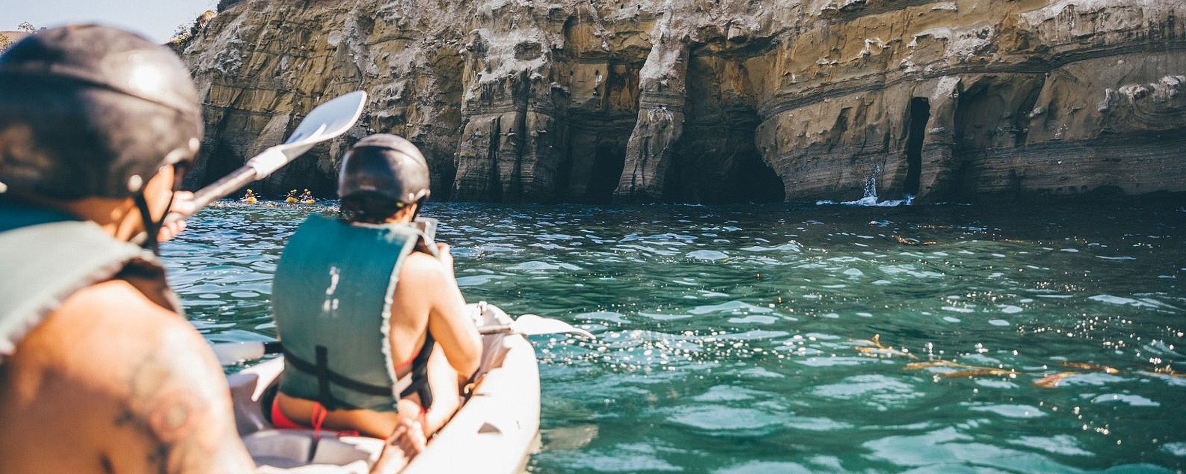
<path id="1" fill-rule="evenodd" d="M 540 372 L 535 350 L 521 334 L 486 337 L 505 357 L 474 389 L 473 396 L 401 473 L 521 473 L 538 446 Z M 487 347 L 489 350 L 490 347 Z M 267 387 L 279 380 L 278 357 L 228 377 L 240 436 L 259 473 L 366 474 L 376 468 L 383 440 L 338 436 L 313 430 L 273 429 L 264 412 Z M 387 473 L 383 473 L 387 474 Z"/>

